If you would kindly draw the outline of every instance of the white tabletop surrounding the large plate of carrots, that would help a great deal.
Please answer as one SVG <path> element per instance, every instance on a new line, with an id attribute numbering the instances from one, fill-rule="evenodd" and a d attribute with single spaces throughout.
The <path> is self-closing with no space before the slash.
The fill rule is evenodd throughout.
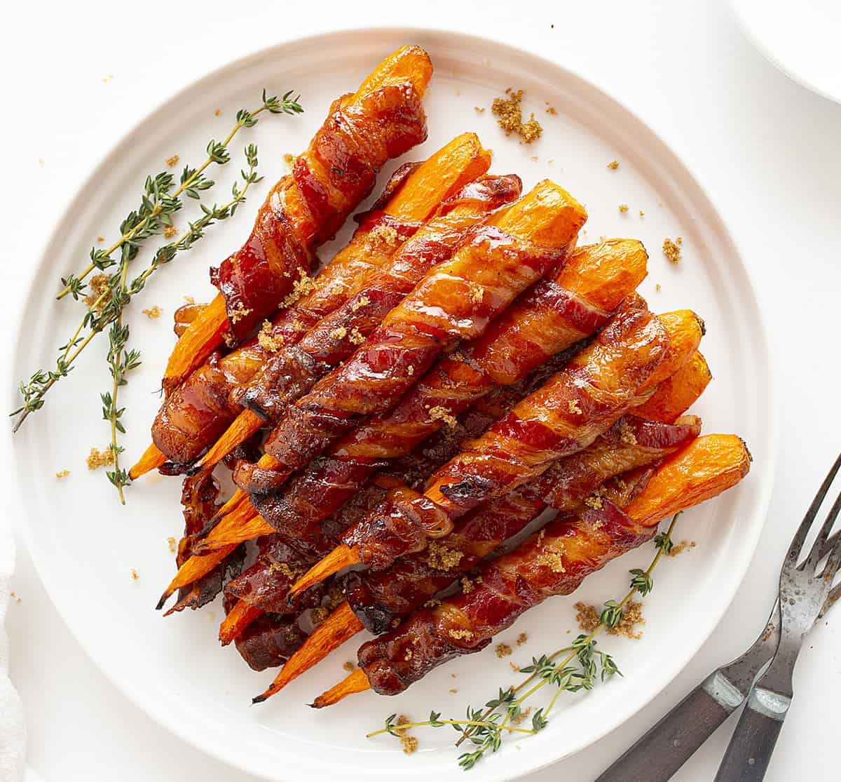
<path id="1" fill-rule="evenodd" d="M 451 7 L 452 3 L 447 5 Z M 445 19 L 438 4 L 428 3 L 426 9 L 426 19 Z M 109 16 L 104 9 L 72 17 L 69 10 L 58 13 L 67 16 L 54 16 L 47 25 L 27 16 L 6 28 L 15 30 L 17 40 L 5 42 L 4 56 L 27 63 L 25 77 L 8 85 L 7 107 L 19 117 L 18 107 L 34 111 L 33 95 L 51 95 L 50 109 L 28 121 L 8 160 L 8 179 L 16 183 L 14 193 L 25 205 L 13 213 L 5 231 L 8 258 L 3 265 L 12 290 L 12 259 L 24 266 L 34 259 L 40 215 L 54 219 L 103 150 L 162 97 L 156 90 L 151 90 L 151 97 L 148 90 L 143 93 L 147 97 L 140 97 L 142 79 L 166 82 L 167 93 L 172 93 L 231 56 L 271 43 L 272 29 L 280 29 L 280 24 L 286 29 L 291 24 L 301 33 L 317 29 L 317 22 L 292 19 L 288 11 L 281 19 L 277 12 L 268 16 L 263 12 L 261 17 L 256 8 L 238 8 L 237 27 L 250 32 L 230 40 L 230 24 L 224 17 L 209 21 L 206 15 L 199 19 L 185 11 L 181 16 L 171 9 L 167 19 L 140 22 L 141 38 L 172 33 L 172 40 L 161 41 L 160 60 L 140 61 L 140 44 L 133 48 L 130 40 L 118 35 L 124 21 L 119 14 Z M 770 68 L 743 40 L 723 8 L 699 3 L 695 8 L 664 4 L 655 9 L 637 3 L 633 8 L 611 8 L 607 17 L 595 10 L 563 19 L 539 10 L 531 13 L 507 19 L 501 10 L 491 9 L 484 19 L 459 16 L 461 22 L 457 19 L 452 26 L 493 32 L 504 25 L 512 42 L 527 42 L 539 53 L 569 61 L 636 109 L 701 173 L 728 215 L 748 263 L 764 272 L 760 281 L 766 306 L 780 313 L 771 320 L 771 328 L 783 370 L 782 453 L 770 523 L 754 566 L 713 639 L 659 699 L 586 753 L 533 776 L 555 779 L 565 773 L 588 779 L 702 673 L 751 640 L 768 607 L 791 526 L 838 448 L 835 419 L 828 415 L 816 424 L 806 416 L 820 412 L 841 380 L 830 351 L 841 283 L 833 232 L 841 173 L 833 138 L 841 130 L 841 114 L 837 106 L 804 92 Z M 446 19 L 452 19 L 452 13 Z M 401 20 L 412 21 L 396 11 L 362 16 L 357 11 L 351 16 L 341 9 L 331 19 L 348 25 Z M 552 23 L 554 29 L 549 27 Z M 74 24 L 77 34 L 67 35 Z M 38 29 L 38 51 L 55 52 L 61 66 L 35 56 L 20 35 L 24 29 Z M 179 61 L 173 69 L 185 36 L 200 41 L 201 49 L 193 48 L 189 61 Z M 96 40 L 97 45 L 85 47 L 79 40 Z M 6 65 L 7 72 L 15 71 Z M 62 84 L 74 85 L 72 92 L 56 86 L 58 72 Z M 103 83 L 109 73 L 114 79 Z M 35 203 L 38 211 L 29 206 Z M 4 214 L 11 216 L 8 209 Z M 786 312 L 791 314 L 786 317 Z M 827 363 L 823 363 L 825 351 L 831 357 Z M 77 465 L 71 466 L 83 469 L 81 454 Z M 13 677 L 29 716 L 29 762 L 47 782 L 115 776 L 246 779 L 169 737 L 116 693 L 71 641 L 24 552 L 19 555 L 14 586 L 23 601 L 13 606 L 10 623 Z M 810 639 L 814 648 L 801 657 L 795 705 L 780 737 L 770 779 L 833 777 L 821 757 L 821 748 L 832 746 L 833 721 L 818 717 L 833 713 L 841 689 L 837 678 L 841 638 L 836 627 L 817 630 Z M 681 777 L 709 779 L 726 738 L 715 737 Z M 527 749 L 524 743 L 521 751 Z"/>

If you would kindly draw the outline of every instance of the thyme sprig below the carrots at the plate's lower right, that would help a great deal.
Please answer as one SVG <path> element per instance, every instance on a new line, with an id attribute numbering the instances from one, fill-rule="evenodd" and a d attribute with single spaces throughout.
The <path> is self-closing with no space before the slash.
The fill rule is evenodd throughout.
<path id="1" fill-rule="evenodd" d="M 456 742 L 457 747 L 464 741 L 476 747 L 473 751 L 462 753 L 458 757 L 458 765 L 466 771 L 472 769 L 479 760 L 484 758 L 485 753 L 495 753 L 499 750 L 506 733 L 533 735 L 542 731 L 549 724 L 548 717 L 558 702 L 560 694 L 574 693 L 581 689 L 590 690 L 599 680 L 603 682 L 616 673 L 621 676 L 621 671 L 616 666 L 613 657 L 596 648 L 595 636 L 598 636 L 606 627 L 612 628 L 619 624 L 625 607 L 637 593 L 643 595 L 651 592 L 653 588 L 651 574 L 660 558 L 672 549 L 671 535 L 679 516 L 680 513 L 676 513 L 669 528 L 655 536 L 654 545 L 657 547 L 657 553 L 648 567 L 645 570 L 634 568 L 629 571 L 632 575 L 631 588 L 625 597 L 618 602 L 606 601 L 605 610 L 601 612 L 599 624 L 595 629 L 587 635 L 579 635 L 570 646 L 564 646 L 557 652 L 542 655 L 542 657 L 532 657 L 532 664 L 520 669 L 522 673 L 530 674 L 520 684 L 511 685 L 507 689 L 500 688 L 497 696 L 489 700 L 484 709 L 468 706 L 466 718 L 463 720 L 442 720 L 440 712 L 431 711 L 428 720 L 397 724 L 394 721 L 395 715 L 391 715 L 386 719 L 385 726 L 378 731 L 368 733 L 368 738 L 383 733 L 400 737 L 401 731 L 412 727 L 437 728 L 452 725 L 461 734 Z M 558 658 L 563 659 L 558 660 Z M 523 703 L 547 684 L 553 686 L 555 692 L 546 708 L 540 708 L 532 715 L 531 728 L 516 727 L 516 723 L 521 721 L 525 713 L 522 710 Z M 511 725 L 512 722 L 515 725 Z"/>

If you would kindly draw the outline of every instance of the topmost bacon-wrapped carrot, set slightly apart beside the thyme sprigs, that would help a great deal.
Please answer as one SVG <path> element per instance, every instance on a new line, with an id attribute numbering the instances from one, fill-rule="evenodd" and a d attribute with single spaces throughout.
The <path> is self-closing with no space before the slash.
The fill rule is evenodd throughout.
<path id="1" fill-rule="evenodd" d="M 383 163 L 426 139 L 421 98 L 431 74 L 426 52 L 404 46 L 356 93 L 334 102 L 292 173 L 268 195 L 246 243 L 212 271 L 220 295 L 179 339 L 164 376 L 167 393 L 225 333 L 241 342 L 271 315 L 299 273 L 309 273 L 315 248 L 371 192 Z"/>

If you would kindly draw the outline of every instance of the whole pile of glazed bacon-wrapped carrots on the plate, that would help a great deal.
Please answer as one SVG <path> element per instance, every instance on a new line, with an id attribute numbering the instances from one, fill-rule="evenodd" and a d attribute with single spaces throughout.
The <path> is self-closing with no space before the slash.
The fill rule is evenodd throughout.
<path id="1" fill-rule="evenodd" d="M 704 326 L 648 310 L 643 245 L 576 247 L 584 208 L 489 173 L 472 133 L 399 168 L 309 277 L 383 164 L 426 139 L 431 72 L 406 46 L 331 106 L 213 270 L 219 295 L 179 311 L 131 471 L 186 476 L 158 608 L 222 592 L 222 643 L 283 665 L 255 700 L 366 629 L 316 705 L 399 693 L 748 472 L 741 439 L 684 414 L 711 380 Z M 214 469 L 238 487 L 225 503 Z"/>

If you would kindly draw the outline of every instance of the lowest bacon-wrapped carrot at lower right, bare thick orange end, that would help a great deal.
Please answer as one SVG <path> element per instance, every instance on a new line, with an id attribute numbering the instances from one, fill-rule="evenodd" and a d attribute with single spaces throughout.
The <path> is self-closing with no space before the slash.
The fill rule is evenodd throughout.
<path id="1" fill-rule="evenodd" d="M 650 540 L 661 519 L 735 486 L 749 468 L 748 450 L 735 435 L 696 439 L 650 478 L 643 473 L 636 485 L 617 485 L 600 497 L 600 507 L 562 516 L 487 562 L 469 593 L 415 611 L 395 630 L 363 644 L 362 674 L 348 677 L 314 705 L 331 705 L 368 688 L 398 694 L 452 657 L 478 652 L 527 609 L 574 592 L 591 572 Z"/>

